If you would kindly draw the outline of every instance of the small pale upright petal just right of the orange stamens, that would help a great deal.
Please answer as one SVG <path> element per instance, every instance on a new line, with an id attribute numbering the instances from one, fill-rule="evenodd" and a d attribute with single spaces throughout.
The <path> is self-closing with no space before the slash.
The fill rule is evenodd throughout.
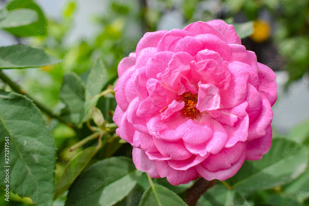
<path id="1" fill-rule="evenodd" d="M 220 109 L 219 88 L 213 84 L 198 83 L 198 96 L 196 108 L 199 111 Z"/>

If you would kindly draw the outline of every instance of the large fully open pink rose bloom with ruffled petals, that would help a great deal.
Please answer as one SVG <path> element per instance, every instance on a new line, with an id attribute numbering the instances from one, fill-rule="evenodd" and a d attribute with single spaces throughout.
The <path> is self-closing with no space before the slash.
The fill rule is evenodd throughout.
<path id="1" fill-rule="evenodd" d="M 172 185 L 222 181 L 268 152 L 276 75 L 232 25 L 212 20 L 148 32 L 118 74 L 116 133 L 150 177 Z"/>

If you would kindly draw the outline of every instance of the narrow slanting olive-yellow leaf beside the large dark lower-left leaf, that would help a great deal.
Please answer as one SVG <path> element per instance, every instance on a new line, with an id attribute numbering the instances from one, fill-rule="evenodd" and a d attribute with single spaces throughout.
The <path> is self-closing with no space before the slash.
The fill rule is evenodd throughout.
<path id="1" fill-rule="evenodd" d="M 60 180 L 58 181 L 56 185 L 54 199 L 57 199 L 59 195 L 69 189 L 71 184 L 85 169 L 85 167 L 90 162 L 91 158 L 95 155 L 95 153 L 95 147 L 88 147 L 77 154 L 77 156 L 65 168 Z"/>

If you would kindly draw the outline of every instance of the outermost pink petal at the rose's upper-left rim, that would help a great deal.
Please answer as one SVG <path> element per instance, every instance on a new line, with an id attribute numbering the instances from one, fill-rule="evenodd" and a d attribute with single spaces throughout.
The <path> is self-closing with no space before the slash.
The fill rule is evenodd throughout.
<path id="1" fill-rule="evenodd" d="M 138 56 L 140 51 L 143 48 L 147 47 L 157 47 L 159 44 L 159 41 L 162 39 L 165 33 L 168 31 L 161 30 L 157 32 L 146 32 L 141 40 L 139 40 L 137 46 L 136 46 L 136 55 Z"/>

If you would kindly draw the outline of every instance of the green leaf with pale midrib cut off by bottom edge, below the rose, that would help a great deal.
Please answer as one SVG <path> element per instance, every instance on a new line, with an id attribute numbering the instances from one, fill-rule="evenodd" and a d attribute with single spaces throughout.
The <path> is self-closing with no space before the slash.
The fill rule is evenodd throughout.
<path id="1" fill-rule="evenodd" d="M 154 185 L 155 191 L 149 186 L 148 189 L 142 196 L 141 201 L 139 202 L 139 206 L 174 206 L 174 205 L 188 205 L 180 198 L 180 196 L 176 195 L 175 192 L 167 189 L 162 185 Z M 156 195 L 157 197 L 156 197 Z"/>

